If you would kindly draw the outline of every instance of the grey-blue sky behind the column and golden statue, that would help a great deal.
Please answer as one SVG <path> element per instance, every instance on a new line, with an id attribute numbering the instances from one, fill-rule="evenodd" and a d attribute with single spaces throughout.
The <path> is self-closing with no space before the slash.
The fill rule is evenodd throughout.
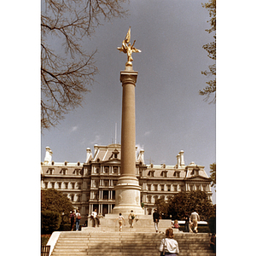
<path id="1" fill-rule="evenodd" d="M 84 162 L 86 148 L 95 144 L 117 143 L 121 134 L 122 86 L 119 73 L 127 56 L 119 53 L 131 26 L 131 43 L 141 53 L 133 53 L 136 84 L 136 143 L 145 150 L 149 164 L 176 165 L 184 151 L 185 165 L 192 161 L 205 166 L 216 156 L 216 106 L 204 102 L 199 90 L 205 88 L 201 71 L 213 64 L 204 44 L 213 41 L 207 9 L 197 0 L 131 0 L 125 4 L 129 16 L 98 26 L 90 40 L 84 39 L 88 52 L 97 49 L 96 83 L 84 96 L 83 108 L 66 115 L 55 128 L 43 131 L 41 161 L 45 147 L 51 148 L 55 162 Z M 214 192 L 214 189 L 212 189 Z M 215 194 L 213 195 L 215 201 Z"/>

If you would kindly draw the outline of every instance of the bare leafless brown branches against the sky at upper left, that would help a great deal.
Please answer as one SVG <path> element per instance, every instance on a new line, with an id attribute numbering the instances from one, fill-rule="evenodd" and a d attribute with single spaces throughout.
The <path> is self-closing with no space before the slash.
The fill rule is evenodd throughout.
<path id="1" fill-rule="evenodd" d="M 94 81 L 96 51 L 85 50 L 104 20 L 124 17 L 127 0 L 43 0 L 41 9 L 41 125 L 55 126 L 77 108 Z"/>

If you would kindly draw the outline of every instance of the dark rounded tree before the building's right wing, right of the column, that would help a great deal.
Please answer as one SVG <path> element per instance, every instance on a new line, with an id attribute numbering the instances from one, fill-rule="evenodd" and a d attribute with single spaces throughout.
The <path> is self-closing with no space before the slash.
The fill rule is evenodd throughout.
<path id="1" fill-rule="evenodd" d="M 169 201 L 158 200 L 155 205 L 164 218 L 170 218 L 172 215 L 172 219 L 183 219 L 185 212 L 191 213 L 195 208 L 200 214 L 201 220 L 207 220 L 212 214 L 215 214 L 215 207 L 204 191 L 179 192 L 177 195 L 173 195 Z"/>

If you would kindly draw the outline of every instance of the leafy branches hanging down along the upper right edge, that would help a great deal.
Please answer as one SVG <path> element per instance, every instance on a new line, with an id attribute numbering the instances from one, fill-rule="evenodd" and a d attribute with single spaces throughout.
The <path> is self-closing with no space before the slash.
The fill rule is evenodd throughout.
<path id="1" fill-rule="evenodd" d="M 214 64 L 210 65 L 208 67 L 209 70 L 202 72 L 202 74 L 207 77 L 213 76 L 214 79 L 207 81 L 206 88 L 204 88 L 203 90 L 200 90 L 199 94 L 202 96 L 206 96 L 205 98 L 206 101 L 209 99 L 209 97 L 212 94 L 214 94 L 212 102 L 215 102 L 216 101 L 216 95 L 215 95 L 215 92 L 216 92 L 216 64 L 215 64 L 215 61 L 216 61 L 216 0 L 209 0 L 208 3 L 202 4 L 202 6 L 209 11 L 209 16 L 211 18 L 210 20 L 207 21 L 210 23 L 211 27 L 209 29 L 206 29 L 206 31 L 208 33 L 213 32 L 213 38 L 214 38 L 214 41 L 212 43 L 203 45 L 203 49 L 206 49 L 208 52 L 207 56 L 210 59 L 214 60 Z"/>

